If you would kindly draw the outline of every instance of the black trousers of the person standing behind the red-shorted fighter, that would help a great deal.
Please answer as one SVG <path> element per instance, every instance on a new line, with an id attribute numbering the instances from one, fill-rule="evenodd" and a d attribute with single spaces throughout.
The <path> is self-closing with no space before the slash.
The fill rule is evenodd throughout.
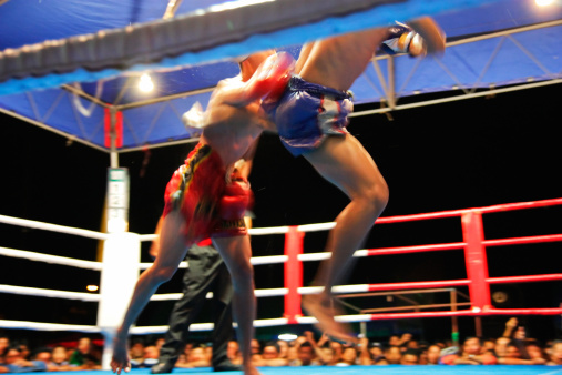
<path id="1" fill-rule="evenodd" d="M 175 364 L 187 342 L 190 325 L 200 314 L 207 292 L 213 292 L 212 364 L 217 366 L 227 361 L 226 346 L 233 337 L 231 274 L 213 246 L 194 245 L 185 260 L 188 267 L 183 277 L 183 296 L 172 310 L 159 363 Z"/>

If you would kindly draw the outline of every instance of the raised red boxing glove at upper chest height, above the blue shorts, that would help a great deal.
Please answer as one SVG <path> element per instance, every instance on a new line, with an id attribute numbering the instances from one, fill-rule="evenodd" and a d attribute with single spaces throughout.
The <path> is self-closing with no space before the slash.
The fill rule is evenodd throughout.
<path id="1" fill-rule="evenodd" d="M 246 82 L 249 95 L 255 99 L 266 97 L 267 101 L 276 101 L 285 91 L 294 69 L 295 59 L 289 53 L 272 54 Z"/>

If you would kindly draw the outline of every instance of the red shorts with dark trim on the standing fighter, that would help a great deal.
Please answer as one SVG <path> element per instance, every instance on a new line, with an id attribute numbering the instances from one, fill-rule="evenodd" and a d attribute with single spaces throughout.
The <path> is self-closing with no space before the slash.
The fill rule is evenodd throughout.
<path id="1" fill-rule="evenodd" d="M 218 153 L 210 145 L 198 143 L 167 183 L 163 215 L 181 211 L 186 222 L 182 230 L 186 245 L 213 236 L 247 234 L 244 224 L 246 205 L 242 212 L 239 203 L 236 205 L 234 211 L 237 217 L 232 213 L 232 209 L 229 215 L 224 214 L 225 210 L 228 211 L 228 204 L 225 204 L 224 200 L 225 196 L 232 195 L 229 186 L 234 184 L 233 182 L 227 185 L 225 176 L 226 170 Z M 249 185 L 247 190 L 249 191 Z"/>

